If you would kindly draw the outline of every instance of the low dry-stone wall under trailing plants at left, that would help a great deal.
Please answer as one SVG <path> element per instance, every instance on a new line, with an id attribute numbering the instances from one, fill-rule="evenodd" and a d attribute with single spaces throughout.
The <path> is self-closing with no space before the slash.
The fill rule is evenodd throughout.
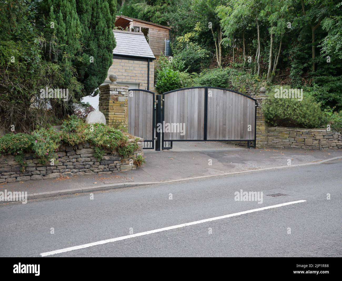
<path id="1" fill-rule="evenodd" d="M 131 139 L 130 142 L 135 140 Z M 57 151 L 58 163 L 40 164 L 33 153 L 25 154 L 27 166 L 21 172 L 21 165 L 14 160 L 13 155 L 0 155 L 0 183 L 29 180 L 55 179 L 63 176 L 111 174 L 116 171 L 136 169 L 134 164 L 137 155 L 143 155 L 143 139 L 138 142 L 139 149 L 128 158 L 122 158 L 117 151 L 106 154 L 98 161 L 94 156 L 94 146 L 84 143 L 75 146 L 61 146 Z M 133 160 L 133 161 L 132 161 Z"/>

